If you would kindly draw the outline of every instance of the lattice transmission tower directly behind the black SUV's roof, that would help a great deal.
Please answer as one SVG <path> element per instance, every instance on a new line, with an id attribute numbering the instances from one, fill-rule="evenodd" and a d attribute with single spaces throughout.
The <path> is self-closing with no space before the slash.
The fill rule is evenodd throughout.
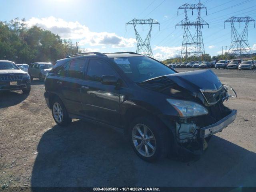
<path id="1" fill-rule="evenodd" d="M 148 35 L 146 36 L 145 40 L 142 40 L 140 34 L 138 33 L 136 29 L 136 25 L 142 25 L 142 29 L 144 25 L 148 24 L 150 26 L 150 29 L 148 31 Z M 157 22 L 154 19 L 133 19 L 130 22 L 126 23 L 125 29 L 127 25 L 133 25 L 134 26 L 134 31 L 135 31 L 135 36 L 137 40 L 137 50 L 136 53 L 143 54 L 146 56 L 153 57 L 153 52 L 150 46 L 150 38 L 151 38 L 151 32 L 152 32 L 152 25 L 153 24 L 158 24 L 159 25 L 159 30 L 160 30 L 160 23 Z"/>

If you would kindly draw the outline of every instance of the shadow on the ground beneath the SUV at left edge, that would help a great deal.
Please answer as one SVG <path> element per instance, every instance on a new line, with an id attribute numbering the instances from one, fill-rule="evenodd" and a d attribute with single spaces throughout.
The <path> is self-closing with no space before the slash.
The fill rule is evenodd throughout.
<path id="1" fill-rule="evenodd" d="M 29 94 L 22 91 L 4 91 L 0 92 L 0 108 L 14 106 L 24 101 Z"/>

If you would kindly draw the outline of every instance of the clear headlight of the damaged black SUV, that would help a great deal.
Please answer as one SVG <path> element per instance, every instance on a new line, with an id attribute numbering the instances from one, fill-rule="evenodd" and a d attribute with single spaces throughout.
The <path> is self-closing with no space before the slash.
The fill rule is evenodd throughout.
<path id="1" fill-rule="evenodd" d="M 191 117 L 208 114 L 208 110 L 204 106 L 192 102 L 177 99 L 166 99 L 179 113 L 181 117 Z"/>

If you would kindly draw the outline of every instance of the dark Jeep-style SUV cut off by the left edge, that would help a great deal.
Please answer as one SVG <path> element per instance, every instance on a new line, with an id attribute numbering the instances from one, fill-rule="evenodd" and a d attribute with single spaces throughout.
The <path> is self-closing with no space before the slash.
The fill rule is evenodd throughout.
<path id="1" fill-rule="evenodd" d="M 6 90 L 22 90 L 23 93 L 29 93 L 30 76 L 14 62 L 0 60 L 0 92 Z"/>

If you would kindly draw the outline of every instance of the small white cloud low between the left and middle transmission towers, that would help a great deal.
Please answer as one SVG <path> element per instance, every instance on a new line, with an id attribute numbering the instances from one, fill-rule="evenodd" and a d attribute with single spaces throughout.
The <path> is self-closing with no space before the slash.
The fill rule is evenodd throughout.
<path id="1" fill-rule="evenodd" d="M 154 58 L 157 60 L 166 60 L 178 56 L 181 47 L 156 46 L 153 50 L 155 51 Z"/>

